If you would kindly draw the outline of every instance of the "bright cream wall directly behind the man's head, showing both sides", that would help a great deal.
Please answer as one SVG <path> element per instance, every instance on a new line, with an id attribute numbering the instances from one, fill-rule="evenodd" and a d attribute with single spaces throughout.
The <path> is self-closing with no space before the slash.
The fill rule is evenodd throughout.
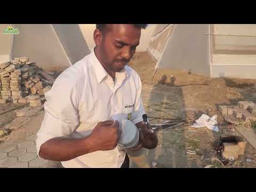
<path id="1" fill-rule="evenodd" d="M 89 46 L 89 49 L 92 51 L 95 43 L 93 40 L 93 32 L 95 30 L 95 24 L 79 24 L 79 27 L 81 28 L 81 31 L 83 33 L 83 36 L 85 38 L 85 41 L 87 42 L 87 45 Z M 149 25 L 145 30 L 141 30 L 141 38 L 140 38 L 140 45 L 137 47 L 137 52 L 146 51 L 149 40 L 151 35 L 153 34 L 153 31 L 155 29 L 155 25 Z"/>

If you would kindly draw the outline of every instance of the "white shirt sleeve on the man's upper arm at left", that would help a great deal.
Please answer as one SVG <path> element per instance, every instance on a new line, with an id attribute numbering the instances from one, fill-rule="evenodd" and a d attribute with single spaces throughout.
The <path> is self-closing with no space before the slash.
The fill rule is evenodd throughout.
<path id="1" fill-rule="evenodd" d="M 78 99 L 74 82 L 65 75 L 57 78 L 45 93 L 45 116 L 37 133 L 37 155 L 41 145 L 56 137 L 71 134 L 78 125 Z"/>

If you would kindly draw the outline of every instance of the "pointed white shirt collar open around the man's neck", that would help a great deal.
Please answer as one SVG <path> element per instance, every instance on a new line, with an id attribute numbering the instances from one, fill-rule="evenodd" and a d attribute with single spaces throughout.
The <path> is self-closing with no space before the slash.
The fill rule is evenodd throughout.
<path id="1" fill-rule="evenodd" d="M 91 56 L 92 56 L 92 60 L 93 60 L 92 66 L 94 68 L 94 71 L 95 71 L 95 74 L 96 74 L 96 77 L 97 77 L 97 81 L 98 81 L 98 83 L 101 83 L 102 80 L 106 76 L 108 76 L 108 73 L 103 68 L 103 66 L 101 65 L 101 63 L 98 60 L 98 58 L 96 57 L 96 55 L 94 53 L 94 50 L 92 50 Z M 128 77 L 128 76 L 129 76 L 129 73 L 126 70 L 126 67 L 124 67 L 124 69 L 122 71 L 116 73 L 116 78 L 120 78 L 121 77 L 121 78 L 124 79 L 125 77 Z"/>

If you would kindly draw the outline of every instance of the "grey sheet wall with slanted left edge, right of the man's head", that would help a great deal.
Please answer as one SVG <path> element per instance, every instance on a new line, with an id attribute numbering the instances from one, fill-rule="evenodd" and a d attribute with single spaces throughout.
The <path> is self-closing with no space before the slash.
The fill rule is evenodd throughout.
<path id="1" fill-rule="evenodd" d="M 175 24 L 159 68 L 192 69 L 210 76 L 210 33 L 206 24 Z"/>

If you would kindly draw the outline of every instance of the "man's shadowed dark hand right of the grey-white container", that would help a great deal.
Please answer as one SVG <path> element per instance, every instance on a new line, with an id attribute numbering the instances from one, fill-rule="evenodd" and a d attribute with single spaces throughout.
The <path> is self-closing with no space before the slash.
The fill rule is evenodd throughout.
<path id="1" fill-rule="evenodd" d="M 133 151 L 139 150 L 142 147 L 146 149 L 154 149 L 158 145 L 157 134 L 151 129 L 151 126 L 148 124 L 146 125 L 145 122 L 139 122 L 136 124 L 140 132 L 140 143 L 137 147 L 131 149 Z M 152 132 L 153 131 L 153 132 Z"/>

